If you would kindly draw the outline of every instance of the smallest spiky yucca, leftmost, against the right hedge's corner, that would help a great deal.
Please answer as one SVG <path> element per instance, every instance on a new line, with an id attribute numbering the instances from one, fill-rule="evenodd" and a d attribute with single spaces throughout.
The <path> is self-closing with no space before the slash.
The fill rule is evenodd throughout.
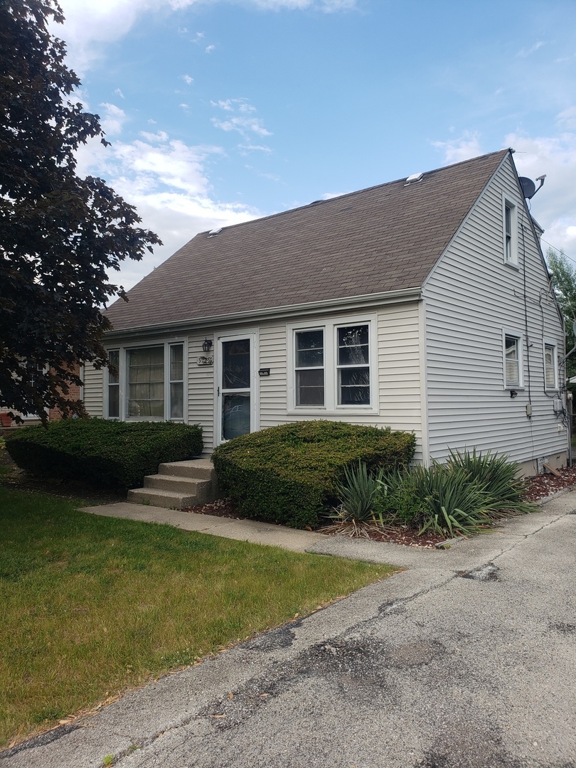
<path id="1" fill-rule="evenodd" d="M 344 469 L 345 482 L 336 486 L 339 505 L 326 517 L 333 521 L 329 529 L 350 536 L 368 535 L 371 526 L 382 526 L 382 514 L 376 511 L 376 498 L 386 494 L 382 482 L 384 472 L 369 472 L 366 464 L 358 462 Z"/>

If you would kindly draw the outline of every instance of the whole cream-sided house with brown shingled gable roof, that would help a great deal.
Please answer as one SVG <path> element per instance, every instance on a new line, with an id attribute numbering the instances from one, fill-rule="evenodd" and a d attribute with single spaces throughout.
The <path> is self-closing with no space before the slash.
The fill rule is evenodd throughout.
<path id="1" fill-rule="evenodd" d="M 564 465 L 564 329 L 512 150 L 198 234 L 108 309 L 108 419 L 198 423 L 207 452 L 339 419 L 406 429 L 416 459 L 488 449 Z"/>

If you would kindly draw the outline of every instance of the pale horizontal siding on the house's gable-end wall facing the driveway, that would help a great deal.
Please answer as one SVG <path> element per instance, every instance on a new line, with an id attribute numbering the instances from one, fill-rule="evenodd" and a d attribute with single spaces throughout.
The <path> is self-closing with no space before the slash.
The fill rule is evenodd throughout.
<path id="1" fill-rule="evenodd" d="M 503 193 L 518 213 L 518 269 L 504 263 Z M 529 462 L 564 451 L 566 431 L 558 431 L 561 421 L 544 386 L 544 339 L 563 355 L 561 321 L 508 159 L 433 270 L 424 295 L 432 457 L 476 447 Z M 514 399 L 504 387 L 506 331 L 523 336 L 524 388 Z"/>

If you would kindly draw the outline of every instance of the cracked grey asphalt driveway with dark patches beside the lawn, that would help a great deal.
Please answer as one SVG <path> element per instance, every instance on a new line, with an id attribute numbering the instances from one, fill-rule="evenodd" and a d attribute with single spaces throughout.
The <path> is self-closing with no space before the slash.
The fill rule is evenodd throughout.
<path id="1" fill-rule="evenodd" d="M 0 768 L 576 768 L 576 492 L 0 753 Z"/>

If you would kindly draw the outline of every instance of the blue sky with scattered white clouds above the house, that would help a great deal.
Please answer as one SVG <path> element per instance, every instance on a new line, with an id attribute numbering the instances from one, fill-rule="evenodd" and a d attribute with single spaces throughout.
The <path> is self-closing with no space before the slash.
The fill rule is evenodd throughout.
<path id="1" fill-rule="evenodd" d="M 547 174 L 545 241 L 576 260 L 574 0 L 61 0 L 58 36 L 111 147 L 78 170 L 164 247 L 514 147 Z"/>

